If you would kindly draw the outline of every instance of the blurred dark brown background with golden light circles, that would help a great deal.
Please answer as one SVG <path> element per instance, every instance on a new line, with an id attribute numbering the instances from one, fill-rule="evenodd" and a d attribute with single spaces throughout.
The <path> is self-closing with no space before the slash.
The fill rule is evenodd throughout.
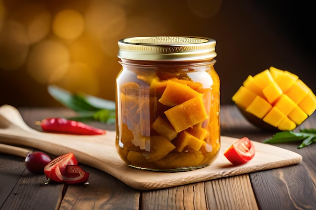
<path id="1" fill-rule="evenodd" d="M 60 106 L 54 84 L 115 100 L 117 42 L 133 36 L 205 36 L 217 41 L 221 103 L 248 75 L 270 66 L 316 92 L 308 1 L 0 0 L 0 105 Z"/>

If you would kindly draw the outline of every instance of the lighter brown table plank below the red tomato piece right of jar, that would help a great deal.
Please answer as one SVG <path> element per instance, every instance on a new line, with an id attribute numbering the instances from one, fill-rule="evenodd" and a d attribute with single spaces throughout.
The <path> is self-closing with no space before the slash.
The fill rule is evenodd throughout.
<path id="1" fill-rule="evenodd" d="M 212 210 L 258 209 L 248 174 L 207 181 L 205 192 Z"/>

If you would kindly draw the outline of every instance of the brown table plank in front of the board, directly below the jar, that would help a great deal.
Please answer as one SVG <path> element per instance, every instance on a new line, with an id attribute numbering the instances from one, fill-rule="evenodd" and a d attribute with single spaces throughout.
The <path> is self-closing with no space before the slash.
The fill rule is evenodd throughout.
<path id="1" fill-rule="evenodd" d="M 204 183 L 143 191 L 140 205 L 146 210 L 207 209 Z"/>

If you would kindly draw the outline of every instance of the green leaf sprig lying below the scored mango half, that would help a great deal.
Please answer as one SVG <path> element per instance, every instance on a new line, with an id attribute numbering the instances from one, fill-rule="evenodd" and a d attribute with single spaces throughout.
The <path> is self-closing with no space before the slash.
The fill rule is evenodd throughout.
<path id="1" fill-rule="evenodd" d="M 299 132 L 282 131 L 274 134 L 272 137 L 262 141 L 263 143 L 288 143 L 302 141 L 297 149 L 301 149 L 316 142 L 316 129 L 300 129 Z"/>

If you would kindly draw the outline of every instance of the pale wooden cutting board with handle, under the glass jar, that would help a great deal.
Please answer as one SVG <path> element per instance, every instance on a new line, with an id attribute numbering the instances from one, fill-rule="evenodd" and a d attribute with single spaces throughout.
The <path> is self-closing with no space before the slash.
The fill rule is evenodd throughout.
<path id="1" fill-rule="evenodd" d="M 127 185 L 140 189 L 159 189 L 221 177 L 251 173 L 298 164 L 302 157 L 289 150 L 253 142 L 254 158 L 241 166 L 233 166 L 223 155 L 236 138 L 221 136 L 217 160 L 205 168 L 186 172 L 153 172 L 127 166 L 115 149 L 115 131 L 104 135 L 81 136 L 45 133 L 25 124 L 18 110 L 10 105 L 0 107 L 0 143 L 35 148 L 52 155 L 73 152 L 79 163 L 100 169 Z"/>

